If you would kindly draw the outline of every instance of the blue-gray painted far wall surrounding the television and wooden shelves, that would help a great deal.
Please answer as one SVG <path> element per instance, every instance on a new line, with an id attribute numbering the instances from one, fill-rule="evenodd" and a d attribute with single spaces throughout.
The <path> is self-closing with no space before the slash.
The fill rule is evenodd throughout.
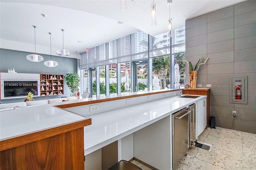
<path id="1" fill-rule="evenodd" d="M 32 62 L 26 59 L 26 56 L 31 53 L 24 51 L 15 51 L 9 49 L 0 49 L 0 72 L 7 73 L 8 69 L 14 68 L 17 73 L 37 73 L 37 74 L 63 74 L 70 73 L 71 71 L 76 72 L 77 59 L 68 57 L 58 57 L 52 55 L 52 60 L 59 63 L 57 67 L 46 67 L 44 61 L 50 60 L 50 55 L 39 54 L 44 57 L 44 61 Z M 40 79 L 40 77 L 38 77 Z M 2 88 L 2 87 L 1 87 Z M 34 97 L 34 100 L 53 99 L 60 97 L 70 96 L 70 89 L 66 85 L 64 80 L 64 95 L 58 96 L 42 96 Z M 24 98 L 19 99 L 2 99 L 0 103 L 14 103 L 24 101 Z"/>

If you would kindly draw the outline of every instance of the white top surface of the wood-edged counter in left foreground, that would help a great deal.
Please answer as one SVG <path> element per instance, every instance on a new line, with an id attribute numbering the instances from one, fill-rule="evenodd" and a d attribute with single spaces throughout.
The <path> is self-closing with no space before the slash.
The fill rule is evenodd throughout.
<path id="1" fill-rule="evenodd" d="M 87 118 L 49 105 L 3 111 L 0 113 L 0 140 L 84 119 Z"/>

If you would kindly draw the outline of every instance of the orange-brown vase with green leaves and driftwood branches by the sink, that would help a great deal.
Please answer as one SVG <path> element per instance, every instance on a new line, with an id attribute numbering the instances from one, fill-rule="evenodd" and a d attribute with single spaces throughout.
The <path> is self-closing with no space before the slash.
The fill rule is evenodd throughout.
<path id="1" fill-rule="evenodd" d="M 189 61 L 189 63 L 188 63 L 188 61 L 186 61 L 187 64 L 188 64 L 188 69 L 189 69 L 188 74 L 189 74 L 189 80 L 190 80 L 190 84 L 189 84 L 190 88 L 192 88 L 192 89 L 196 88 L 197 71 L 198 71 L 200 65 L 206 63 L 208 58 L 209 57 L 207 57 L 207 59 L 204 61 L 204 63 L 201 63 L 202 58 L 200 58 L 197 61 L 197 63 L 196 63 L 194 68 L 193 68 L 193 65 L 192 65 L 192 63 L 190 61 Z"/>

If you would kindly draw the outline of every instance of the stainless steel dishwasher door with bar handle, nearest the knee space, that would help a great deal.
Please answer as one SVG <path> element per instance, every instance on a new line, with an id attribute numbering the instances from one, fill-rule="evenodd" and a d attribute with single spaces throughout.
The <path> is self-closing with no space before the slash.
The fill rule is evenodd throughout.
<path id="1" fill-rule="evenodd" d="M 175 169 L 178 162 L 188 152 L 189 136 L 188 108 L 172 114 L 172 168 Z"/>

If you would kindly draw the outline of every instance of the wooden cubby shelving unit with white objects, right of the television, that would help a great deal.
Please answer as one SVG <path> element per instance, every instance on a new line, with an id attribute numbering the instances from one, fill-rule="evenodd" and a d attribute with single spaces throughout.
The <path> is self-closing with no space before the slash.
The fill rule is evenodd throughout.
<path id="1" fill-rule="evenodd" d="M 40 96 L 63 95 L 64 75 L 40 74 Z"/>

